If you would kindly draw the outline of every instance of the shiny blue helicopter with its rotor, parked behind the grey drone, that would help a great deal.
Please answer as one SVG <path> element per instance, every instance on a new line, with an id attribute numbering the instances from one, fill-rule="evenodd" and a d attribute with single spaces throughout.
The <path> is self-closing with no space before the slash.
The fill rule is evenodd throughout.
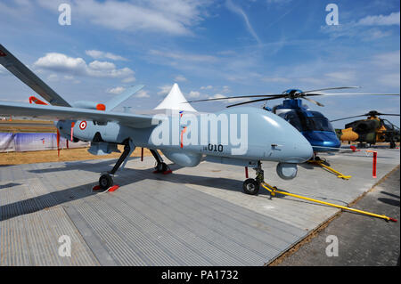
<path id="1" fill-rule="evenodd" d="M 217 101 L 217 100 L 230 100 L 230 99 L 241 99 L 241 98 L 249 99 L 249 98 L 260 97 L 260 99 L 257 100 L 242 101 L 239 103 L 231 104 L 228 105 L 227 108 L 257 101 L 265 101 L 265 104 L 263 105 L 262 108 L 264 110 L 273 112 L 274 114 L 287 120 L 289 123 L 291 123 L 292 126 L 297 128 L 299 132 L 303 134 L 305 138 L 307 138 L 307 141 L 310 142 L 316 154 L 317 152 L 338 151 L 340 150 L 341 142 L 337 134 L 335 133 L 333 126 L 331 126 L 331 122 L 329 121 L 329 119 L 325 118 L 323 114 L 320 113 L 319 111 L 309 110 L 307 105 L 302 104 L 301 99 L 313 102 L 319 107 L 323 107 L 324 105 L 322 103 L 312 100 L 308 97 L 316 95 L 334 95 L 334 94 L 397 95 L 393 93 L 319 93 L 328 90 L 340 90 L 340 89 L 351 89 L 351 88 L 359 88 L 359 86 L 339 86 L 339 87 L 310 90 L 305 92 L 299 89 L 289 89 L 279 94 L 241 95 L 241 96 L 197 100 L 197 101 Z M 285 100 L 282 101 L 282 104 L 276 105 L 273 108 L 269 108 L 266 106 L 267 101 L 277 100 L 277 99 L 285 99 Z M 195 101 L 188 101 L 188 102 L 195 102 Z"/>

